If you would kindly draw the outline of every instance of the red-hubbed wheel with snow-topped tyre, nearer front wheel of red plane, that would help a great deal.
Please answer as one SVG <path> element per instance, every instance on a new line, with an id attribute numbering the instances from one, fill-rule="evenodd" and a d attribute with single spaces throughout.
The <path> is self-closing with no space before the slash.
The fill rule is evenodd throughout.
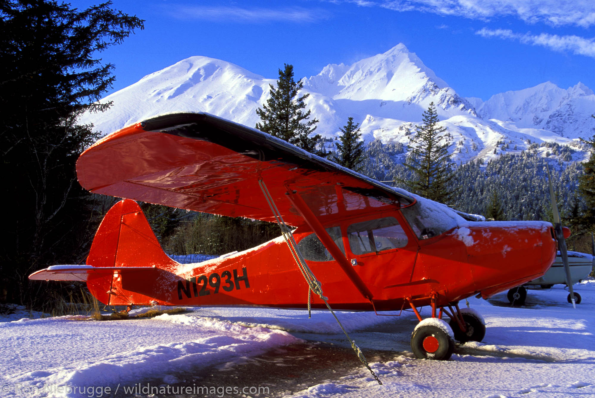
<path id="1" fill-rule="evenodd" d="M 452 329 L 442 319 L 424 319 L 411 334 L 411 349 L 419 359 L 447 360 L 455 349 Z"/>

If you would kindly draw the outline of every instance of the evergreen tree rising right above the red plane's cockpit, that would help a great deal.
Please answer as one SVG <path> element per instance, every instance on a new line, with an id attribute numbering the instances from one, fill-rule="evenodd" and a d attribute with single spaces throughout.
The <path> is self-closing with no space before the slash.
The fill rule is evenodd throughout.
<path id="1" fill-rule="evenodd" d="M 441 203 L 449 203 L 453 190 L 447 187 L 453 173 L 448 153 L 448 144 L 440 144 L 444 126 L 439 126 L 434 102 L 430 102 L 428 110 L 423 113 L 422 126 L 415 126 L 417 133 L 410 137 L 409 157 L 405 166 L 411 170 L 415 179 L 401 180 L 415 194 Z"/>

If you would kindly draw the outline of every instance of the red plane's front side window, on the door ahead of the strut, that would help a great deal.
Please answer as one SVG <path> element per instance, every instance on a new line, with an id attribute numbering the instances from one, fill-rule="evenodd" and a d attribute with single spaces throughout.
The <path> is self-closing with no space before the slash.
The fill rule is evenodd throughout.
<path id="1" fill-rule="evenodd" d="M 407 235 L 394 217 L 352 224 L 347 227 L 347 238 L 353 254 L 377 253 L 407 245 Z"/>

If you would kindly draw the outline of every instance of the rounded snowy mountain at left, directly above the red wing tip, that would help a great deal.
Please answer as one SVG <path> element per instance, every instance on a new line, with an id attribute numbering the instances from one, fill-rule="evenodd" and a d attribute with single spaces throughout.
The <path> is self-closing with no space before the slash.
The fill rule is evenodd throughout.
<path id="1" fill-rule="evenodd" d="M 190 57 L 108 95 L 102 99 L 113 102 L 108 111 L 81 121 L 108 134 L 162 113 L 203 111 L 253 127 L 275 82 L 226 61 Z"/>

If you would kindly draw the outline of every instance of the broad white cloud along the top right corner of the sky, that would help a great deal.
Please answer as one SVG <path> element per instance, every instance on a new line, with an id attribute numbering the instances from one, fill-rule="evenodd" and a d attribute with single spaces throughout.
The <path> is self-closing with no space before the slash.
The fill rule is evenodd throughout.
<path id="1" fill-rule="evenodd" d="M 394 11 L 424 11 L 487 20 L 512 15 L 527 23 L 553 26 L 595 24 L 594 0 L 389 0 L 377 5 Z"/>

